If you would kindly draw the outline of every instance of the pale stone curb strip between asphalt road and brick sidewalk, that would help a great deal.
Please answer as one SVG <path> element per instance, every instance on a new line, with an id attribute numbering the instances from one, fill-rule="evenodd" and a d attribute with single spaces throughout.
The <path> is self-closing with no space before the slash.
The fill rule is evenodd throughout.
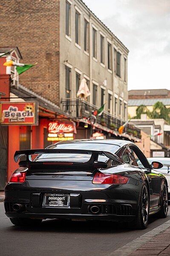
<path id="1" fill-rule="evenodd" d="M 128 256 L 131 253 L 133 253 L 135 250 L 137 250 L 139 247 L 141 247 L 143 244 L 146 244 L 148 241 L 150 241 L 156 235 L 159 235 L 161 232 L 167 230 L 169 227 L 170 227 L 170 220 L 167 222 L 164 222 L 164 224 L 145 233 L 144 235 L 141 235 L 140 237 L 136 238 L 135 240 L 130 241 L 129 243 L 125 244 L 123 247 L 118 248 L 117 250 L 108 254 L 107 256 Z"/>

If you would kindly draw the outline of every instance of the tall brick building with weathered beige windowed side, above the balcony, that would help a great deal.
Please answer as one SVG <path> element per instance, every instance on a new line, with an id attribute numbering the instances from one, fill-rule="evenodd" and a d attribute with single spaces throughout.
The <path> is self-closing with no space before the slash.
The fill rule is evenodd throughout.
<path id="1" fill-rule="evenodd" d="M 86 78 L 88 101 L 127 119 L 128 50 L 81 0 L 1 0 L 0 47 L 20 48 L 38 65 L 20 83 L 53 103 L 76 98 Z M 77 86 L 77 87 L 76 87 Z"/>

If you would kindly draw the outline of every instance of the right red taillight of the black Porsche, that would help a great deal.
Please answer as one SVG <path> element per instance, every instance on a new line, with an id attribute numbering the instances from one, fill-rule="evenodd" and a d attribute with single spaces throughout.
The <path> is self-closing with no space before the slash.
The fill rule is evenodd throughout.
<path id="1" fill-rule="evenodd" d="M 93 184 L 126 184 L 129 178 L 118 174 L 97 173 L 93 178 Z"/>

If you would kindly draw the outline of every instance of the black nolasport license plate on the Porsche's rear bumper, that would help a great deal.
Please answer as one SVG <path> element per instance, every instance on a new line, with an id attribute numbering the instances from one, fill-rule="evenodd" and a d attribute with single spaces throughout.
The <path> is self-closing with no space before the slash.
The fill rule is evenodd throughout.
<path id="1" fill-rule="evenodd" d="M 44 207 L 69 207 L 69 194 L 45 194 Z"/>

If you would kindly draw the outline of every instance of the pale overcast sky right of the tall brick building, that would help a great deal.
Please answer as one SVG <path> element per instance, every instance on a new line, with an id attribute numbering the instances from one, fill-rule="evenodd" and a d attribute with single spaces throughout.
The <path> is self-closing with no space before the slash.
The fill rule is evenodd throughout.
<path id="1" fill-rule="evenodd" d="M 130 51 L 128 90 L 170 89 L 170 0 L 83 0 Z"/>

